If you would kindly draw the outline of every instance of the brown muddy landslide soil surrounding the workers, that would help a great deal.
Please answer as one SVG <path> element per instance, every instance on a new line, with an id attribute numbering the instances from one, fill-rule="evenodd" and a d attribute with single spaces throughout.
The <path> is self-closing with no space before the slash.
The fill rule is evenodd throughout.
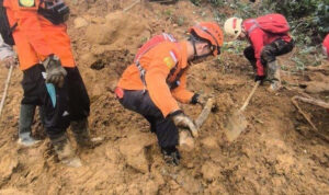
<path id="1" fill-rule="evenodd" d="M 192 66 L 189 89 L 214 93 L 217 108 L 201 128 L 194 150 L 181 148 L 181 165 L 167 165 L 147 122 L 120 105 L 113 87 L 147 38 L 162 31 L 183 38 L 188 26 L 212 20 L 214 10 L 180 1 L 140 3 L 123 13 L 132 2 L 70 2 L 68 28 L 91 99 L 91 135 L 104 138 L 95 149 L 78 151 L 82 168 L 58 163 L 37 115 L 33 131 L 43 141 L 18 146 L 22 72 L 14 70 L 0 124 L 0 194 L 329 194 L 328 139 L 315 134 L 291 102 L 304 91 L 299 85 L 328 85 L 329 73 L 295 71 L 292 54 L 280 58 L 287 68 L 282 71 L 286 88 L 275 94 L 258 89 L 246 112 L 248 128 L 231 144 L 224 124 L 254 84 L 251 67 L 241 54 L 227 51 Z M 0 72 L 1 94 L 7 73 Z M 328 102 L 326 89 L 307 92 Z M 182 107 L 194 118 L 202 110 Z M 329 137 L 329 113 L 306 103 L 300 107 Z"/>

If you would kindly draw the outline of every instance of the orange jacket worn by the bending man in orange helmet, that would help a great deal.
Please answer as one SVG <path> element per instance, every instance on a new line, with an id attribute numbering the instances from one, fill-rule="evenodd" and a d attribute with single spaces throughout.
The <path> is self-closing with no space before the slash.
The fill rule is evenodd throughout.
<path id="1" fill-rule="evenodd" d="M 148 50 L 139 59 L 146 70 L 146 90 L 164 117 L 180 110 L 175 100 L 190 103 L 194 94 L 186 90 L 189 66 L 186 49 L 186 42 L 163 42 Z M 180 72 L 182 74 L 179 78 L 179 85 L 170 90 L 168 83 L 175 81 Z M 117 87 L 124 90 L 144 90 L 145 87 L 135 64 L 124 71 Z"/>

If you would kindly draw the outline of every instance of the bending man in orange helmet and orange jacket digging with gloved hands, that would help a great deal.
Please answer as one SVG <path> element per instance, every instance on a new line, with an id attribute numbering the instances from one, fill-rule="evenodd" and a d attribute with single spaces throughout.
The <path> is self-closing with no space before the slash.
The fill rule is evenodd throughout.
<path id="1" fill-rule="evenodd" d="M 204 22 L 192 26 L 190 38 L 183 42 L 161 42 L 139 56 L 123 73 L 115 89 L 116 96 L 126 108 L 141 114 L 156 133 L 164 160 L 179 163 L 177 126 L 190 128 L 194 137 L 197 129 L 193 121 L 180 108 L 182 103 L 205 103 L 205 95 L 186 90 L 189 61 L 205 56 L 217 56 L 223 45 L 218 24 Z M 143 47 L 141 47 L 143 48 Z"/>

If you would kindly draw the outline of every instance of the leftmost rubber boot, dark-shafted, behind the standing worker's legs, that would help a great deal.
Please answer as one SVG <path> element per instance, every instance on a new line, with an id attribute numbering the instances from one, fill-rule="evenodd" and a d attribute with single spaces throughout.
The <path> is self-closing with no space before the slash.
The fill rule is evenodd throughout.
<path id="1" fill-rule="evenodd" d="M 31 136 L 32 123 L 35 113 L 35 105 L 21 104 L 20 124 L 19 124 L 19 145 L 31 147 L 39 142 Z"/>

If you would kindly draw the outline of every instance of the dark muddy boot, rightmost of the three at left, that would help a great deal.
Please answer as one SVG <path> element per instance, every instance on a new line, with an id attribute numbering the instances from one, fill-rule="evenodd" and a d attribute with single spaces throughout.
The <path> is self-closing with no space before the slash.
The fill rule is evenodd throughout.
<path id="1" fill-rule="evenodd" d="M 91 141 L 88 129 L 88 119 L 71 122 L 71 130 L 80 148 L 94 148 L 95 144 Z"/>

